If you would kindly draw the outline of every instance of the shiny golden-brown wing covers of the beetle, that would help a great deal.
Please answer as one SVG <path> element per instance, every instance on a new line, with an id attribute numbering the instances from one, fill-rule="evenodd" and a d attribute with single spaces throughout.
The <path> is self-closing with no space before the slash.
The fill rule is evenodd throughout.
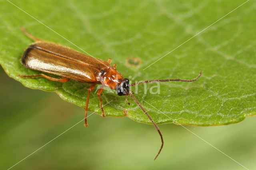
<path id="1" fill-rule="evenodd" d="M 24 52 L 22 64 L 29 69 L 61 75 L 86 83 L 97 83 L 100 69 L 109 63 L 52 42 L 35 42 Z"/>

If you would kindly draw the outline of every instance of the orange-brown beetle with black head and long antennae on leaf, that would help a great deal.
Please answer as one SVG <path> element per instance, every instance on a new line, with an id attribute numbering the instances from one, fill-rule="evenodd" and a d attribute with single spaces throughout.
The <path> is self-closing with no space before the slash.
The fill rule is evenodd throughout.
<path id="1" fill-rule="evenodd" d="M 102 112 L 102 117 L 105 117 L 105 112 L 102 107 L 102 99 L 100 97 L 103 87 L 109 87 L 110 89 L 115 89 L 117 95 L 125 96 L 126 102 L 130 105 L 127 100 L 127 96 L 130 95 L 132 99 L 134 99 L 135 103 L 140 107 L 143 113 L 146 114 L 148 119 L 152 122 L 154 127 L 157 129 L 162 144 L 160 150 L 155 156 L 154 160 L 160 154 L 164 140 L 161 131 L 159 130 L 156 123 L 153 119 L 148 115 L 146 110 L 140 105 L 140 102 L 134 97 L 133 93 L 131 93 L 130 86 L 135 86 L 142 83 L 154 83 L 154 82 L 165 82 L 165 81 L 184 81 L 184 82 L 192 82 L 198 80 L 201 76 L 202 71 L 196 79 L 186 80 L 186 79 L 156 79 L 156 80 L 146 80 L 140 81 L 138 83 L 129 84 L 129 79 L 124 78 L 116 69 L 116 64 L 110 66 L 111 58 L 108 61 L 104 61 L 101 59 L 96 59 L 92 56 L 85 55 L 80 53 L 74 49 L 69 47 L 65 47 L 60 44 L 56 44 L 53 42 L 48 42 L 45 40 L 41 40 L 40 38 L 36 38 L 29 34 L 24 28 L 21 28 L 22 32 L 26 34 L 29 38 L 34 40 L 35 42 L 30 44 L 28 48 L 25 49 L 21 63 L 27 67 L 28 69 L 34 69 L 38 71 L 42 71 L 45 73 L 50 73 L 54 75 L 62 76 L 62 78 L 54 78 L 45 74 L 38 75 L 19 75 L 20 77 L 26 78 L 34 78 L 34 77 L 44 77 L 46 79 L 52 81 L 60 81 L 65 83 L 70 79 L 74 79 L 76 81 L 80 81 L 82 83 L 90 83 L 92 84 L 88 88 L 88 96 L 86 99 L 86 107 L 85 107 L 85 117 L 84 117 L 84 126 L 88 127 L 87 124 L 87 111 L 88 111 L 88 103 L 90 99 L 90 92 L 94 90 L 96 84 L 102 84 L 100 89 L 98 89 L 98 99 L 100 100 L 100 109 Z"/>

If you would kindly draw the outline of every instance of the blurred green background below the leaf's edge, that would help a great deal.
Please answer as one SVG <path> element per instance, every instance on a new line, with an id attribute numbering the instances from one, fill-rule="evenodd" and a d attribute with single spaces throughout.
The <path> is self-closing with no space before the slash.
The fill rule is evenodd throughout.
<path id="1" fill-rule="evenodd" d="M 56 93 L 28 89 L 0 68 L 0 169 L 8 169 L 84 117 L 84 110 Z M 256 117 L 220 127 L 185 126 L 249 169 L 255 169 Z M 233 169 L 242 166 L 186 130 L 93 114 L 12 169 Z"/>

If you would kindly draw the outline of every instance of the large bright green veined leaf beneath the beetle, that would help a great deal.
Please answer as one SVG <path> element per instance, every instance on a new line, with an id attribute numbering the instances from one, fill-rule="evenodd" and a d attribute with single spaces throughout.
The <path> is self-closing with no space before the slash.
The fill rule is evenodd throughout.
<path id="1" fill-rule="evenodd" d="M 156 83 L 147 84 L 146 94 L 144 85 L 139 85 L 138 94 L 134 94 L 157 124 L 198 126 L 237 123 L 256 114 L 256 3 L 248 1 L 240 6 L 244 2 L 12 1 L 94 57 L 112 58 L 118 71 L 132 83 L 194 79 L 202 70 L 196 82 L 162 82 L 159 94 L 150 94 Z M 18 77 L 40 73 L 20 63 L 24 49 L 32 43 L 20 27 L 36 37 L 84 52 L 9 2 L 1 1 L 0 6 L 0 63 L 6 73 L 26 87 L 54 91 L 62 99 L 85 107 L 90 84 Z M 130 61 L 133 57 L 141 64 Z M 135 87 L 133 90 L 136 92 Z M 150 123 L 131 98 L 130 106 L 113 90 L 104 90 L 102 98 L 103 105 L 111 101 L 104 106 L 107 116 L 124 117 L 127 111 L 130 119 Z M 89 110 L 100 114 L 96 93 L 91 93 Z"/>

